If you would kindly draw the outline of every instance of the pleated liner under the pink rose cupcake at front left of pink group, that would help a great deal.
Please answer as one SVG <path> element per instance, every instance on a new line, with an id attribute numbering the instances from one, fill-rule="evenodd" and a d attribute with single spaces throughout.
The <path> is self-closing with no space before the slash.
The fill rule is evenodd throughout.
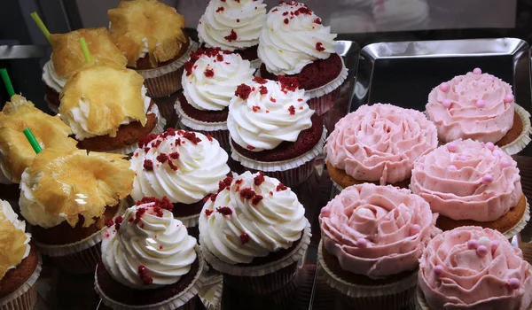
<path id="1" fill-rule="evenodd" d="M 317 248 L 317 262 L 320 268 L 324 270 L 325 282 L 333 289 L 340 291 L 342 294 L 350 298 L 366 298 L 394 295 L 407 291 L 408 289 L 418 284 L 418 273 L 412 271 L 412 274 L 395 283 L 387 283 L 382 285 L 358 285 L 349 283 L 335 275 L 332 270 L 327 267 L 323 254 L 323 242 L 320 241 Z"/>

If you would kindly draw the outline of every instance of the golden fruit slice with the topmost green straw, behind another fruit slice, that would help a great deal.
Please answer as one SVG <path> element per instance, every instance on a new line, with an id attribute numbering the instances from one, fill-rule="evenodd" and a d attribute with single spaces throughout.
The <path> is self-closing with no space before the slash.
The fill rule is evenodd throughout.
<path id="1" fill-rule="evenodd" d="M 86 28 L 66 34 L 50 35 L 53 48 L 51 61 L 59 76 L 68 79 L 85 65 L 80 38 L 84 37 L 89 46 L 90 56 L 96 62 L 106 60 L 117 66 L 126 66 L 128 59 L 121 53 L 109 36 L 105 27 Z"/>

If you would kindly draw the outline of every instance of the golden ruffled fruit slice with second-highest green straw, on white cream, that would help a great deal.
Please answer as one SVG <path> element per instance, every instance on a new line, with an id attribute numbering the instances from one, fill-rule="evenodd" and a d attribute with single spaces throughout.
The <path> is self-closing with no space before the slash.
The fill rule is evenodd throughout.
<path id="1" fill-rule="evenodd" d="M 80 102 L 89 116 L 80 125 L 94 136 L 116 136 L 121 123 L 137 120 L 145 126 L 144 78 L 134 70 L 110 64 L 88 64 L 76 72 L 59 95 L 59 112 L 73 115 Z M 75 118 L 74 118 L 74 121 Z"/>

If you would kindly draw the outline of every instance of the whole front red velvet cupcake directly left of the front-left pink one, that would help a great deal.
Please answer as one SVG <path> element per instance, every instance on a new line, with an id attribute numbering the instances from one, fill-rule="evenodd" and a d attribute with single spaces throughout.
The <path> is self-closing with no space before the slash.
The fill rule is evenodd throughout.
<path id="1" fill-rule="evenodd" d="M 289 283 L 310 242 L 305 209 L 292 190 L 262 173 L 223 180 L 200 214 L 205 260 L 223 283 L 253 294 Z"/>

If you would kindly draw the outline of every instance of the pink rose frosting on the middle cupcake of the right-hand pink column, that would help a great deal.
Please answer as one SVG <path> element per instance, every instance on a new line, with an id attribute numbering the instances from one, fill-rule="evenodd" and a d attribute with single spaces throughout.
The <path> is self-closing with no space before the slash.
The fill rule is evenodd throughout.
<path id="1" fill-rule="evenodd" d="M 411 190 L 453 220 L 495 221 L 518 204 L 517 163 L 493 143 L 457 140 L 414 164 Z"/>

